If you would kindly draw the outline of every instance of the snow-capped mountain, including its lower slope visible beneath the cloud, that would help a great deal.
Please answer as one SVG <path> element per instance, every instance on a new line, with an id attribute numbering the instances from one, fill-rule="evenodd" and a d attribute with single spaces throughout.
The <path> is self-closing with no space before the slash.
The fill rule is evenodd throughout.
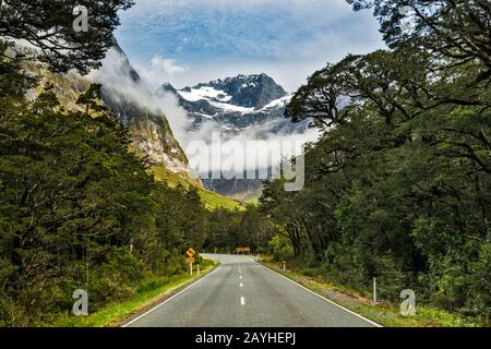
<path id="1" fill-rule="evenodd" d="M 164 84 L 158 92 L 177 97 L 190 118 L 189 132 L 197 133 L 207 123 L 206 130 L 220 130 L 225 139 L 247 132 L 248 137 L 252 134 L 259 141 L 303 133 L 308 129 L 308 122 L 292 123 L 285 118 L 292 95 L 266 74 L 238 75 L 182 89 Z M 259 197 L 262 189 L 262 180 L 219 179 L 203 180 L 203 183 L 219 194 L 244 201 Z"/>

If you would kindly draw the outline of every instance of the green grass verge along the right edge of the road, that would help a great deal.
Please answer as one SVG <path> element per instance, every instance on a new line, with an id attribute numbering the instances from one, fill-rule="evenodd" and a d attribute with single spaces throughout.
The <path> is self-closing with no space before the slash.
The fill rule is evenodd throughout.
<path id="1" fill-rule="evenodd" d="M 403 316 L 400 304 L 383 302 L 374 304 L 356 290 L 324 279 L 291 270 L 283 272 L 279 263 L 263 257 L 263 264 L 308 289 L 386 327 L 476 327 L 482 326 L 475 318 L 467 318 L 427 304 L 416 304 L 415 316 Z"/>

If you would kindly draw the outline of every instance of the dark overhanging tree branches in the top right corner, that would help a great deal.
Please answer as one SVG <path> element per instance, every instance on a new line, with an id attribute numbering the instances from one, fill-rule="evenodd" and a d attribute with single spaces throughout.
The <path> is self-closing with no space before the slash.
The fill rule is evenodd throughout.
<path id="1" fill-rule="evenodd" d="M 392 47 L 411 45 L 447 60 L 446 67 L 478 60 L 478 81 L 491 75 L 491 4 L 487 0 L 347 0 L 355 10 L 374 9 Z M 409 7 L 405 13 L 404 7 Z M 410 15 L 407 19 L 406 15 Z M 405 29 L 403 22 L 412 21 Z"/>

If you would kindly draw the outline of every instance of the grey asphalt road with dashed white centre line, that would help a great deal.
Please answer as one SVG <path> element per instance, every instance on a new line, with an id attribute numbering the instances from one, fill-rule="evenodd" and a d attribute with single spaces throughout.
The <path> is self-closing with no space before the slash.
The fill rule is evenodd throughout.
<path id="1" fill-rule="evenodd" d="M 248 256 L 206 254 L 221 266 L 128 322 L 128 327 L 373 327 Z"/>

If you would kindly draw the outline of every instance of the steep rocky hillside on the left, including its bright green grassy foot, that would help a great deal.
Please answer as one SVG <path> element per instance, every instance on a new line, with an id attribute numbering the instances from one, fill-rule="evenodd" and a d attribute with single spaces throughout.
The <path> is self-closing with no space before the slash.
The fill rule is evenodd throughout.
<path id="1" fill-rule="evenodd" d="M 87 91 L 95 81 L 103 84 L 103 103 L 110 108 L 119 118 L 122 124 L 129 128 L 132 140 L 132 151 L 151 165 L 149 171 L 157 180 L 166 181 L 170 186 L 190 185 L 197 188 L 205 206 L 209 209 L 225 207 L 229 209 L 241 209 L 239 202 L 220 196 L 203 188 L 200 178 L 192 173 L 189 168 L 188 158 L 178 141 L 173 137 L 166 116 L 163 112 L 155 112 L 155 108 L 142 107 L 134 100 L 134 97 L 127 95 L 122 91 L 115 88 L 110 82 L 105 84 L 105 70 L 117 70 L 117 74 L 130 81 L 132 88 L 139 88 L 140 94 L 151 96 L 149 91 L 142 87 L 137 72 L 131 67 L 128 58 L 121 48 L 115 43 L 115 48 L 108 56 L 118 56 L 118 64 L 110 68 L 103 67 L 101 74 L 91 74 L 81 76 L 75 72 L 67 74 L 52 73 L 47 69 L 35 64 L 27 64 L 26 70 L 39 77 L 39 87 L 28 92 L 29 98 L 35 98 L 43 86 L 52 85 L 60 103 L 71 110 L 76 110 L 79 96 Z M 115 72 L 112 72 L 115 73 Z M 100 80 L 101 79 L 101 80 Z M 128 83 L 128 82 L 127 82 Z"/>

